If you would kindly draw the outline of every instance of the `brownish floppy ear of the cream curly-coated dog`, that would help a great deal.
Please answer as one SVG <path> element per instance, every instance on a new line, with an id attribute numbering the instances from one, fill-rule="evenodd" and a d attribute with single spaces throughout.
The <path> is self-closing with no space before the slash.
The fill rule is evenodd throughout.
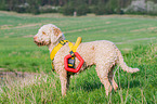
<path id="1" fill-rule="evenodd" d="M 52 27 L 50 29 L 50 32 L 51 32 L 51 42 L 52 43 L 60 41 L 60 38 L 62 38 L 62 31 L 57 27 Z"/>

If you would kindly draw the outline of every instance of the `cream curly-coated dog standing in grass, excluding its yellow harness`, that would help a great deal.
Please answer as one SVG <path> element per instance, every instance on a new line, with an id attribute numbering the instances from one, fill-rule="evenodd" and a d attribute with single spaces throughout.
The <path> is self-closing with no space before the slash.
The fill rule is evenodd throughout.
<path id="1" fill-rule="evenodd" d="M 50 52 L 64 39 L 65 37 L 61 29 L 52 24 L 43 25 L 34 37 L 34 41 L 37 46 L 48 46 Z M 110 41 L 82 42 L 78 47 L 77 52 L 84 60 L 84 64 L 79 73 L 84 70 L 88 66 L 95 65 L 97 76 L 105 87 L 106 95 L 108 95 L 113 88 L 115 91 L 118 88 L 113 75 L 116 65 L 120 66 L 127 73 L 139 72 L 138 68 L 131 68 L 126 65 L 121 52 Z M 64 57 L 67 54 L 69 54 L 68 42 L 57 51 L 53 60 L 55 72 L 60 75 L 62 95 L 66 95 L 70 78 L 70 75 L 64 68 Z M 79 61 L 76 61 L 75 64 L 77 66 Z"/>

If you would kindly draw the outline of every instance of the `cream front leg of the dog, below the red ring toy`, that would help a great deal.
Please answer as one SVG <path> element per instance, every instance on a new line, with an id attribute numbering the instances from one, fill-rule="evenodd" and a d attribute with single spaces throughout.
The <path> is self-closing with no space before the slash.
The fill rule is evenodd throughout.
<path id="1" fill-rule="evenodd" d="M 70 76 L 67 76 L 67 74 L 60 75 L 61 87 L 62 87 L 62 96 L 66 95 L 66 91 L 69 86 L 69 78 L 70 78 Z"/>

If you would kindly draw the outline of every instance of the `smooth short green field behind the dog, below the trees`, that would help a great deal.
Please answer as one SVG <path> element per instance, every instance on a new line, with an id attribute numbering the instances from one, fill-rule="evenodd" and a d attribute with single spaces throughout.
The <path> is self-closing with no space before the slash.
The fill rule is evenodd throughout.
<path id="1" fill-rule="evenodd" d="M 157 20 L 128 16 L 36 17 L 0 13 L 0 66 L 21 72 L 50 72 L 47 47 L 38 48 L 32 40 L 44 24 L 55 24 L 66 39 L 76 41 L 109 40 L 122 49 L 156 43 Z M 41 57 L 39 57 L 41 56 Z M 36 57 L 36 58 L 35 58 Z M 39 67 L 37 67 L 37 66 Z"/>

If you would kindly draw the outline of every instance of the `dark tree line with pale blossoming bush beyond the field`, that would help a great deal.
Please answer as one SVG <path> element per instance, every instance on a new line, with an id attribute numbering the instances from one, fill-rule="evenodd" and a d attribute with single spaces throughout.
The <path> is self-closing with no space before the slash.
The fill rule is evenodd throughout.
<path id="1" fill-rule="evenodd" d="M 18 13 L 65 15 L 151 14 L 157 15 L 156 0 L 0 0 L 0 10 Z"/>

